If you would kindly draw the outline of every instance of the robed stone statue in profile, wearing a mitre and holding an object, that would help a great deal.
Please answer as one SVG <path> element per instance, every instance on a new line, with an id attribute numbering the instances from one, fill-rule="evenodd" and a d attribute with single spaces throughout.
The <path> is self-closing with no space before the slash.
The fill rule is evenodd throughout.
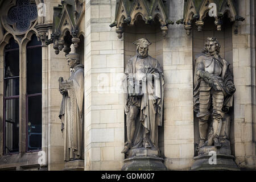
<path id="1" fill-rule="evenodd" d="M 59 78 L 59 90 L 63 95 L 60 108 L 61 131 L 64 130 L 64 160 L 84 159 L 84 65 L 79 54 L 67 55 L 71 77 Z"/>

